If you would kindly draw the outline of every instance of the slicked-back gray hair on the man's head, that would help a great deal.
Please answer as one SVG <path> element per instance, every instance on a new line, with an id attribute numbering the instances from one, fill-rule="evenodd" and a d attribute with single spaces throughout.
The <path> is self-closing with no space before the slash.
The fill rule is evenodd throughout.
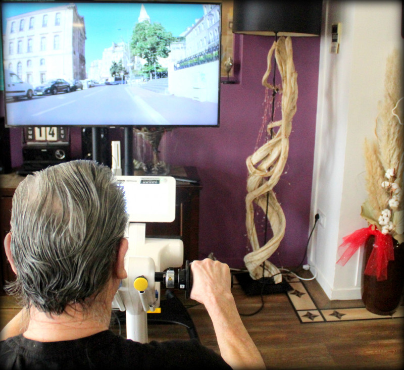
<path id="1" fill-rule="evenodd" d="M 106 166 L 78 160 L 27 176 L 13 197 L 17 279 L 8 293 L 55 314 L 89 306 L 113 275 L 127 220 L 123 190 Z"/>

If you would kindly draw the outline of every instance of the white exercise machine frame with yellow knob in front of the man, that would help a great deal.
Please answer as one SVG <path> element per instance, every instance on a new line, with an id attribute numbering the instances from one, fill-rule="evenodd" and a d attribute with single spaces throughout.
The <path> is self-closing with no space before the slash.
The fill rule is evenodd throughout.
<path id="1" fill-rule="evenodd" d="M 126 337 L 147 343 L 147 311 L 160 307 L 160 282 L 155 273 L 181 267 L 180 239 L 146 238 L 146 222 L 175 220 L 176 182 L 170 176 L 116 176 L 125 191 L 129 222 L 125 237 L 128 277 L 115 294 L 112 306 L 126 311 Z M 137 283 L 135 283 L 137 282 Z M 136 286 L 136 288 L 135 288 Z"/>

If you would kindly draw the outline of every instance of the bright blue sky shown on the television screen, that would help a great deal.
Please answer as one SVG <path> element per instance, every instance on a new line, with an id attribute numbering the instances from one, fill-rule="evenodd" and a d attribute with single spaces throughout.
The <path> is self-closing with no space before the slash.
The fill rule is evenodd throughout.
<path id="1" fill-rule="evenodd" d="M 3 4 L 3 33 L 6 19 L 21 13 L 52 8 L 70 3 L 20 3 Z M 201 4 L 143 3 L 150 22 L 161 23 L 167 31 L 179 36 L 187 27 L 203 17 Z M 141 3 L 76 3 L 86 29 L 85 58 L 91 62 L 102 58 L 103 50 L 113 42 L 128 41 L 138 22 Z"/>

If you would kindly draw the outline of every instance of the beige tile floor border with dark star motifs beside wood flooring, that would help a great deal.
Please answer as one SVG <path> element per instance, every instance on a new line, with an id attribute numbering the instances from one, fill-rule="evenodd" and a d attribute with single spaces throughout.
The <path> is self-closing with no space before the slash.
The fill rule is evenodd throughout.
<path id="1" fill-rule="evenodd" d="M 296 315 L 302 324 L 307 323 L 326 323 L 348 320 L 371 320 L 371 319 L 392 319 L 404 318 L 404 306 L 401 305 L 392 315 L 377 315 L 365 308 L 358 307 L 358 302 L 355 305 L 341 307 L 339 304 L 335 308 L 320 308 L 305 284 L 297 278 L 288 279 L 288 283 L 293 290 L 287 292 L 290 303 L 292 304 Z M 330 303 L 332 307 L 332 301 Z"/>

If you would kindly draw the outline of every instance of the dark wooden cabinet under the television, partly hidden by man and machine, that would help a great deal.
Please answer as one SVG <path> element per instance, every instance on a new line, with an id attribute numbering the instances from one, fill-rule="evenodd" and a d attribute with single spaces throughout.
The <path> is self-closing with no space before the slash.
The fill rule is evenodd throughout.
<path id="1" fill-rule="evenodd" d="M 179 176 L 185 179 L 189 177 L 197 182 L 177 181 L 175 220 L 171 223 L 147 223 L 146 236 L 181 237 L 184 243 L 185 265 L 186 260 L 192 261 L 198 258 L 199 192 L 201 185 L 194 167 L 173 168 L 169 176 Z M 4 294 L 5 282 L 15 278 L 4 251 L 3 241 L 10 231 L 12 197 L 17 185 L 23 179 L 23 176 L 16 174 L 0 175 L 0 230 L 2 238 L 0 295 Z"/>

